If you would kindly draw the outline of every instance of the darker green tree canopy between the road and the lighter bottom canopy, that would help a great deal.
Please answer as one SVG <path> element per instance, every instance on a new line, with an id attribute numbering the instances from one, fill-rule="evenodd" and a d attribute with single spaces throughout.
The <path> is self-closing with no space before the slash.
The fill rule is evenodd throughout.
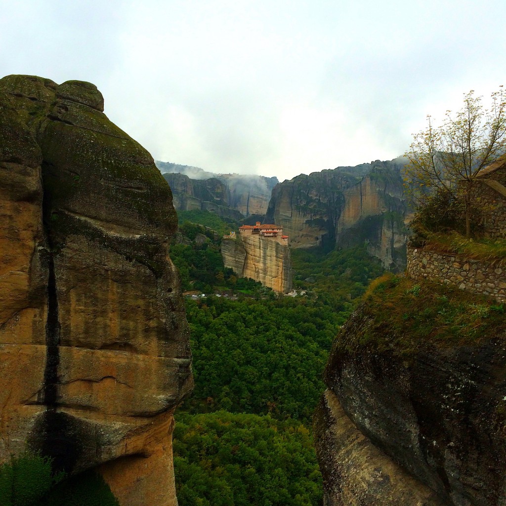
<path id="1" fill-rule="evenodd" d="M 347 315 L 307 299 L 188 301 L 195 390 L 186 407 L 310 423 L 328 350 Z"/>

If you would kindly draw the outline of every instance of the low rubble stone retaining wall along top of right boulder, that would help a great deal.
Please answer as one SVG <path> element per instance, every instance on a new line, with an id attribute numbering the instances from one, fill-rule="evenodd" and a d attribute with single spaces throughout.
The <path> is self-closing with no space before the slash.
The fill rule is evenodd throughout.
<path id="1" fill-rule="evenodd" d="M 506 302 L 506 269 L 485 262 L 408 246 L 407 271 L 413 279 L 446 283 Z"/>

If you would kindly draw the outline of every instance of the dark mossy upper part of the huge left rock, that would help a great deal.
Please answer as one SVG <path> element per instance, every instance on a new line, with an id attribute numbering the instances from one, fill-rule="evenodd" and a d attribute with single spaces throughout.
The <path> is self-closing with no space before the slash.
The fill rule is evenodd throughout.
<path id="1" fill-rule="evenodd" d="M 151 155 L 102 112 L 95 85 L 71 80 L 58 86 L 43 77 L 10 75 L 0 79 L 0 90 L 0 110 L 10 115 L 3 123 L 17 125 L 0 133 L 4 156 L 20 159 L 14 132 L 21 132 L 20 144 L 31 140 L 30 163 L 40 164 L 41 152 L 49 228 L 51 216 L 65 211 L 123 231 L 174 233 L 170 187 Z M 61 227 L 59 233 L 64 240 Z"/>

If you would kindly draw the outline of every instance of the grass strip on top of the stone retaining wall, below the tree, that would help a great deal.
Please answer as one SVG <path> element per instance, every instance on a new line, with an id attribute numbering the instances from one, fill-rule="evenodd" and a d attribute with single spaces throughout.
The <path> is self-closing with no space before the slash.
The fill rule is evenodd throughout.
<path id="1" fill-rule="evenodd" d="M 457 232 L 436 234 L 426 232 L 424 248 L 448 255 L 461 255 L 469 260 L 506 265 L 505 239 L 467 239 Z"/>

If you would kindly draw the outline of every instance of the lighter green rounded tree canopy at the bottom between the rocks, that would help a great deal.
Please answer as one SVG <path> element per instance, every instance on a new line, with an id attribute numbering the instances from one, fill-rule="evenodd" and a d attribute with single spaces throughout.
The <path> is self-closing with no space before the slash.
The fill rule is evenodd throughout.
<path id="1" fill-rule="evenodd" d="M 309 506 L 322 499 L 310 432 L 294 420 L 179 415 L 174 466 L 181 506 Z"/>

